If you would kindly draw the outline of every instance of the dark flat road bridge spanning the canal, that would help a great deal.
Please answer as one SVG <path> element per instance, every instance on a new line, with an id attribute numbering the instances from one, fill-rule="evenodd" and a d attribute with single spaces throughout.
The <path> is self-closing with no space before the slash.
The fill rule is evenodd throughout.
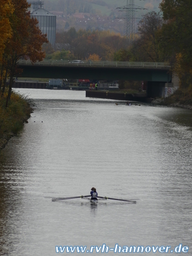
<path id="1" fill-rule="evenodd" d="M 71 61 L 50 60 L 36 62 L 19 61 L 23 78 L 68 78 L 96 80 L 133 80 L 170 83 L 170 66 L 157 62 Z"/>

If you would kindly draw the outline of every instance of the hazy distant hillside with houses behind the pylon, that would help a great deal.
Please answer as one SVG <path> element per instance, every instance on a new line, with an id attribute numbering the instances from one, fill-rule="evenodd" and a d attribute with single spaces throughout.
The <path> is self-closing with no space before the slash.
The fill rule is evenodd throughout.
<path id="1" fill-rule="evenodd" d="M 159 11 L 161 0 L 135 0 L 135 30 L 142 15 Z M 126 0 L 45 0 L 44 8 L 57 16 L 57 31 L 111 30 L 124 32 Z M 145 9 L 142 9 L 145 8 Z"/>

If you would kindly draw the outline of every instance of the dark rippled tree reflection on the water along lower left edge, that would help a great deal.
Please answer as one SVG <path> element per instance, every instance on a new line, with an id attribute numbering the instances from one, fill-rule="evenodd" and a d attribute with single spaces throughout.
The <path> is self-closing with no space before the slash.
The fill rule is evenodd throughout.
<path id="1" fill-rule="evenodd" d="M 12 246 L 19 242 L 18 220 L 21 214 L 22 187 L 18 178 L 21 171 L 16 170 L 1 155 L 0 165 L 0 254 L 11 255 Z M 14 239 L 12 239 L 14 237 Z"/>

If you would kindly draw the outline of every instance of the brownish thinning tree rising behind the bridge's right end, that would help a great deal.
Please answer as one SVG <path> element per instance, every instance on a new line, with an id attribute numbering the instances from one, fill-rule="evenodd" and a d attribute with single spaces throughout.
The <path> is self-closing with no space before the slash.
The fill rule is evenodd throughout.
<path id="1" fill-rule="evenodd" d="M 164 62 L 165 57 L 158 34 L 162 24 L 163 19 L 160 13 L 152 11 L 143 15 L 138 24 L 138 35 L 135 41 L 128 47 L 115 52 L 114 59 L 116 61 Z"/>

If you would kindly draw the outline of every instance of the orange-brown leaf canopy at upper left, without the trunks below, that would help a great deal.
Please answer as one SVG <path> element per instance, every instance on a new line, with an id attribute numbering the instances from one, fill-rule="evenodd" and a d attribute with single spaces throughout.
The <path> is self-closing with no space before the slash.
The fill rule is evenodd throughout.
<path id="1" fill-rule="evenodd" d="M 30 18 L 26 0 L 0 2 L 0 62 L 3 55 L 28 56 L 32 62 L 42 60 L 41 52 L 46 36 L 37 28 L 37 20 Z M 40 58 L 40 59 L 39 59 Z"/>

